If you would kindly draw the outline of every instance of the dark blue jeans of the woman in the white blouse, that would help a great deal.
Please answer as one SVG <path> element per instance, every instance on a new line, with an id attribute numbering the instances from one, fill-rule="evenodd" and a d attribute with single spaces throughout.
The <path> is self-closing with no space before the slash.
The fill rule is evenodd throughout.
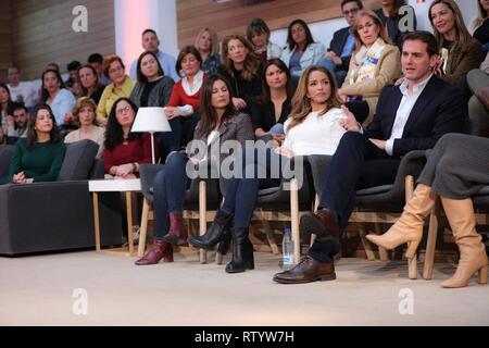
<path id="1" fill-rule="evenodd" d="M 247 161 L 247 152 L 252 160 Z M 249 154 L 250 156 L 250 154 Z M 235 214 L 235 227 L 248 227 L 256 206 L 259 189 L 280 186 L 283 165 L 287 158 L 276 154 L 272 149 L 246 148 L 238 153 L 235 164 L 235 175 L 226 185 L 223 211 Z M 273 167 L 277 165 L 277 167 Z M 261 174 L 259 178 L 259 175 Z M 263 174 L 263 175 L 262 175 Z"/>

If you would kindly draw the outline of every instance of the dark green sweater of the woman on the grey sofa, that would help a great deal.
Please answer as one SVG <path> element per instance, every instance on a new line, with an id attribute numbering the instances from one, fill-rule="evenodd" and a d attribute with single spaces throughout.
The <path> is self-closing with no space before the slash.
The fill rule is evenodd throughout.
<path id="1" fill-rule="evenodd" d="M 12 183 L 12 177 L 21 172 L 24 172 L 26 178 L 34 178 L 34 182 L 54 182 L 63 164 L 65 151 L 66 147 L 62 141 L 38 142 L 28 150 L 27 139 L 21 138 L 15 144 L 9 175 L 0 178 L 0 184 Z"/>

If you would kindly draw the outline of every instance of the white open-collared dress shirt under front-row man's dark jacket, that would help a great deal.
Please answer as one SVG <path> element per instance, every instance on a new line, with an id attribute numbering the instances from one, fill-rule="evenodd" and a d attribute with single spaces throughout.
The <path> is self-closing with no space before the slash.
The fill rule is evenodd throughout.
<path id="1" fill-rule="evenodd" d="M 411 111 L 414 108 L 414 104 L 419 98 L 421 94 L 425 89 L 428 80 L 431 78 L 432 74 L 430 74 L 426 79 L 422 80 L 418 84 L 415 84 L 413 87 L 412 94 L 409 91 L 409 79 L 404 79 L 404 82 L 399 86 L 399 89 L 402 94 L 401 103 L 399 104 L 398 112 L 396 113 L 394 123 L 392 125 L 392 132 L 390 133 L 389 139 L 386 141 L 386 152 L 392 156 L 393 153 L 393 144 L 396 139 L 401 139 L 402 134 L 404 133 L 404 127 L 410 117 Z"/>

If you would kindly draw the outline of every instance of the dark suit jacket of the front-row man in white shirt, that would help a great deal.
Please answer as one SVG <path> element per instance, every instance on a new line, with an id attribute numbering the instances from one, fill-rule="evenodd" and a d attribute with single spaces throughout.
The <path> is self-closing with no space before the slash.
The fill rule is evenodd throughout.
<path id="1" fill-rule="evenodd" d="M 389 139 L 401 99 L 398 86 L 384 88 L 374 121 L 364 133 L 368 138 Z M 466 114 L 459 89 L 432 75 L 408 117 L 402 138 L 394 140 L 392 154 L 434 148 L 442 135 L 463 132 Z"/>

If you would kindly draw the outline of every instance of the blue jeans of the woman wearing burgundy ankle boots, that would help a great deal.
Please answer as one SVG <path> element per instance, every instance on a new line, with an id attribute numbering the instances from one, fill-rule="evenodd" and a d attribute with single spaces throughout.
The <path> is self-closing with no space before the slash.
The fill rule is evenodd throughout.
<path id="1" fill-rule="evenodd" d="M 154 237 L 162 239 L 170 227 L 170 213 L 184 211 L 185 192 L 190 185 L 186 173 L 188 157 L 174 152 L 154 178 Z"/>

